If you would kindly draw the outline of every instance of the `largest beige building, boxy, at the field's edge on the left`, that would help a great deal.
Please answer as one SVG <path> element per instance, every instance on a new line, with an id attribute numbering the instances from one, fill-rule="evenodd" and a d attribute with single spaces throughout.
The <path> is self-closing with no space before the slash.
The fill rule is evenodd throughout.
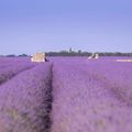
<path id="1" fill-rule="evenodd" d="M 45 53 L 35 53 L 32 56 L 31 62 L 46 62 Z"/>

